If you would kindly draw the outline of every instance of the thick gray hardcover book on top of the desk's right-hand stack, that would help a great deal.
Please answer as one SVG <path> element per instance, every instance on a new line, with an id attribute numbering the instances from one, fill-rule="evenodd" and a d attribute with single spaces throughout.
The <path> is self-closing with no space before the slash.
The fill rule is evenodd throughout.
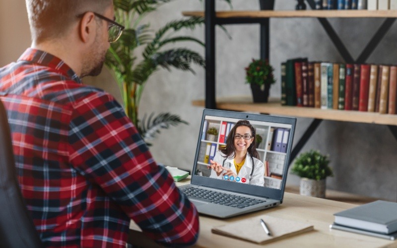
<path id="1" fill-rule="evenodd" d="M 397 203 L 377 200 L 333 214 L 335 223 L 371 232 L 397 231 Z"/>

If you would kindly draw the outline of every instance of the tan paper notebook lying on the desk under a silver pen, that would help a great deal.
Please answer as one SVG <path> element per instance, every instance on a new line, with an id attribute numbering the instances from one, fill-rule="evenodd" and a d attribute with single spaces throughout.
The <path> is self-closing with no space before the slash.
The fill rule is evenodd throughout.
<path id="1" fill-rule="evenodd" d="M 261 226 L 261 219 L 265 221 L 271 236 L 265 233 Z M 262 215 L 214 227 L 211 232 L 263 245 L 312 230 L 314 230 L 314 226 L 309 223 Z"/>

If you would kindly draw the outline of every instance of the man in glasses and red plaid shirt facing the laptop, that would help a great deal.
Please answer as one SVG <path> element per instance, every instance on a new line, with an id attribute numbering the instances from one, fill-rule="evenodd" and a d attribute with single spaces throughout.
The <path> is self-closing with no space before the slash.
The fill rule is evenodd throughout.
<path id="1" fill-rule="evenodd" d="M 112 0 L 26 0 L 32 46 L 0 69 L 18 180 L 46 247 L 125 247 L 132 219 L 166 245 L 196 242 L 196 208 L 157 166 L 98 75 L 123 27 Z"/>

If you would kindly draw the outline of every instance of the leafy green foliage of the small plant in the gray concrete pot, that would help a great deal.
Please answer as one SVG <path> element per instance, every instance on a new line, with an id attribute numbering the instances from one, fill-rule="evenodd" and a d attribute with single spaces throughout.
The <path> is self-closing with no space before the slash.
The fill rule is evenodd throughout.
<path id="1" fill-rule="evenodd" d="M 301 153 L 295 159 L 291 173 L 301 178 L 322 180 L 332 177 L 332 169 L 329 167 L 330 160 L 328 156 L 323 155 L 320 151 L 310 150 Z"/>

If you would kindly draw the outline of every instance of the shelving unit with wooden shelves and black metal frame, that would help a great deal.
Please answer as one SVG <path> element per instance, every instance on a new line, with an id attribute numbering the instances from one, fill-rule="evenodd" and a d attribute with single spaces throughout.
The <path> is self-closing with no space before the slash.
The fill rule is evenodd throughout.
<path id="1" fill-rule="evenodd" d="M 306 0 L 309 7 L 315 9 L 314 0 Z M 388 125 L 397 140 L 397 116 L 381 115 L 379 113 L 362 113 L 358 111 L 321 110 L 314 108 L 301 108 L 281 106 L 277 103 L 253 104 L 251 100 L 239 102 L 233 97 L 233 101 L 215 101 L 215 26 L 222 24 L 260 24 L 260 57 L 269 59 L 269 18 L 317 18 L 332 43 L 346 63 L 365 63 L 367 58 L 375 50 L 390 27 L 396 21 L 397 10 L 274 10 L 274 0 L 259 0 L 260 10 L 250 11 L 215 11 L 215 0 L 205 0 L 205 11 L 185 11 L 186 16 L 205 16 L 205 100 L 194 102 L 194 105 L 205 106 L 209 109 L 225 109 L 245 112 L 258 112 L 263 114 L 285 115 L 303 118 L 313 118 L 301 139 L 291 152 L 290 161 L 299 153 L 306 141 L 311 137 L 323 120 L 346 121 L 356 123 L 373 123 Z M 362 53 L 353 59 L 349 51 L 343 45 L 335 30 L 327 18 L 385 18 L 383 24 L 371 38 Z"/>

